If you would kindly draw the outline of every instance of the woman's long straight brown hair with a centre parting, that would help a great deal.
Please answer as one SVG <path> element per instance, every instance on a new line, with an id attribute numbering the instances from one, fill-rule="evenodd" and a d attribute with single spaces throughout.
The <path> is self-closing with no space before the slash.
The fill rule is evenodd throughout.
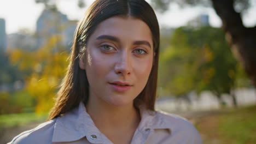
<path id="1" fill-rule="evenodd" d="M 159 57 L 159 25 L 154 10 L 144 0 L 96 0 L 86 11 L 78 23 L 74 34 L 74 44 L 69 56 L 68 71 L 57 93 L 57 99 L 50 112 L 50 119 L 61 116 L 63 113 L 78 106 L 80 101 L 86 105 L 89 97 L 89 83 L 84 70 L 79 67 L 79 58 L 86 50 L 86 43 L 90 35 L 103 20 L 112 16 L 132 16 L 147 23 L 152 32 L 154 61 L 146 87 L 133 101 L 138 108 L 144 105 L 148 110 L 155 110 L 156 85 L 158 79 Z"/>

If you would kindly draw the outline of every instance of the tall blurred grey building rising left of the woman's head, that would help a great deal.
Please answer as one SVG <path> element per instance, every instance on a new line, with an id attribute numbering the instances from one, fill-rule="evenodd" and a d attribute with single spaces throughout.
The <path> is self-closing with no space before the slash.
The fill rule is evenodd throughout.
<path id="1" fill-rule="evenodd" d="M 61 35 L 59 44 L 70 48 L 76 26 L 77 21 L 69 21 L 56 7 L 46 7 L 37 20 L 36 47 L 43 46 L 54 35 Z"/>

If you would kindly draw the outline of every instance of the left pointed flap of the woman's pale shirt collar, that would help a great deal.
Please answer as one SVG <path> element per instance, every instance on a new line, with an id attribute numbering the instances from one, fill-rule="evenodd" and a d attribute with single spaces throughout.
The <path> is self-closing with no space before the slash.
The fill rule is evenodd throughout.
<path id="1" fill-rule="evenodd" d="M 92 135 L 96 135 L 97 139 L 90 139 Z M 76 141 L 84 136 L 91 143 L 102 143 L 100 130 L 95 127 L 90 115 L 86 112 L 84 103 L 80 102 L 78 107 L 56 118 L 52 142 Z"/>

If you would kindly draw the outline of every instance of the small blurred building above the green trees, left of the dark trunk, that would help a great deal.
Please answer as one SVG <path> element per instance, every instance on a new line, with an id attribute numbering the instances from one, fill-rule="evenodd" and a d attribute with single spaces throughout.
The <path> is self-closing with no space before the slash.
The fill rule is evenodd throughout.
<path id="1" fill-rule="evenodd" d="M 195 17 L 195 19 L 190 20 L 188 22 L 189 26 L 193 26 L 193 27 L 203 27 L 203 26 L 209 26 L 209 15 L 207 14 L 201 14 L 197 17 Z"/>

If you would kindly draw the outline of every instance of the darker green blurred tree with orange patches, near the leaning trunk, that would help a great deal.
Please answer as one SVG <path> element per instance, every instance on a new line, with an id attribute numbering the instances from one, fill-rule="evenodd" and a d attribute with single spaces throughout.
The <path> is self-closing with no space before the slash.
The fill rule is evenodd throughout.
<path id="1" fill-rule="evenodd" d="M 219 28 L 202 27 L 192 37 L 195 39 L 193 43 L 201 43 L 203 58 L 203 63 L 197 70 L 197 91 L 208 89 L 223 104 L 221 94 L 231 94 L 235 87 L 237 64 L 225 41 L 224 33 Z M 235 97 L 233 104 L 236 106 Z"/>

